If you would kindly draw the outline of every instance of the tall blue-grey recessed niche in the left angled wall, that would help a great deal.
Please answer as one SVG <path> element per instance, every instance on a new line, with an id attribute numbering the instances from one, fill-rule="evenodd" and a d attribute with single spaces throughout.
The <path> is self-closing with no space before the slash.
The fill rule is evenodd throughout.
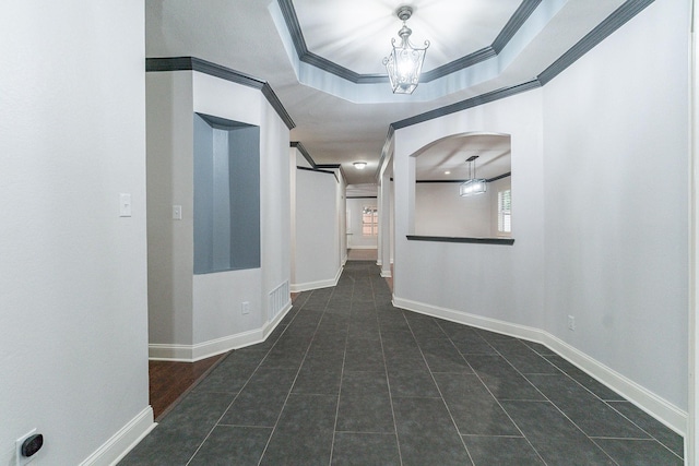
<path id="1" fill-rule="evenodd" d="M 194 113 L 194 274 L 260 267 L 260 128 Z"/>

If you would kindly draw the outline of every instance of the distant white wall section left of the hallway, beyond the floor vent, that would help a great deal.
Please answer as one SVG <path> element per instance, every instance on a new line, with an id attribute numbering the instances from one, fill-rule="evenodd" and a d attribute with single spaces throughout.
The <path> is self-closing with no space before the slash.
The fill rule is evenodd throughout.
<path id="1" fill-rule="evenodd" d="M 334 286 L 340 277 L 340 234 L 344 231 L 340 230 L 339 189 L 332 174 L 296 170 L 293 291 Z"/>

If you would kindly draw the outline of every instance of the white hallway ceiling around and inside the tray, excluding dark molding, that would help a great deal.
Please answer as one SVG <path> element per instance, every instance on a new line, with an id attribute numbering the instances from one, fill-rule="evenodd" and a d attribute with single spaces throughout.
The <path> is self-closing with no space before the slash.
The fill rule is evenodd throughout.
<path id="1" fill-rule="evenodd" d="M 408 0 L 412 43 L 430 41 L 423 71 L 493 44 L 520 3 Z M 146 56 L 197 57 L 266 81 L 296 124 L 292 141 L 317 164 L 342 164 L 348 183 L 364 184 L 376 182 L 392 122 L 535 79 L 623 3 L 542 0 L 497 57 L 422 83 L 410 96 L 392 95 L 388 83 L 355 84 L 299 64 L 277 0 L 146 0 Z M 398 38 L 402 4 L 293 0 L 308 50 L 359 74 L 386 74 L 381 60 Z M 367 168 L 357 170 L 355 160 Z"/>

